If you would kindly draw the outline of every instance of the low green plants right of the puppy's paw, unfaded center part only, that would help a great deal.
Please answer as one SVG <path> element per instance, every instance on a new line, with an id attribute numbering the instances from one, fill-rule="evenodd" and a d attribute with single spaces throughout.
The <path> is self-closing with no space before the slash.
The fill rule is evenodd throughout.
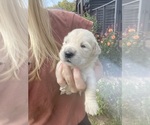
<path id="1" fill-rule="evenodd" d="M 89 116 L 92 125 L 121 125 L 121 88 L 120 80 L 102 78 L 97 84 L 97 116 Z"/>

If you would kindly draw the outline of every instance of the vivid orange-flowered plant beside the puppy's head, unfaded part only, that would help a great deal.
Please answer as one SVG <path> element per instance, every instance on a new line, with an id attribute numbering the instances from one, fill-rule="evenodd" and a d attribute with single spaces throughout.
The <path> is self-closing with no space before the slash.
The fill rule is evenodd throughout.
<path id="1" fill-rule="evenodd" d="M 108 28 L 103 36 L 97 33 L 95 37 L 102 50 L 101 57 L 108 57 L 120 65 L 121 50 L 118 48 L 118 34 L 113 31 L 113 28 Z"/>

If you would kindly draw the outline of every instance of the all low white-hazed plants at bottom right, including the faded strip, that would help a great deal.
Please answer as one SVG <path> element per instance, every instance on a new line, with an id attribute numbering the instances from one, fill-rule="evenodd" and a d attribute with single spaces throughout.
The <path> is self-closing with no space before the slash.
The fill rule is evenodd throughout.
<path id="1" fill-rule="evenodd" d="M 149 125 L 149 78 L 102 78 L 97 84 L 99 112 L 92 125 Z M 105 116 L 105 117 L 103 117 Z M 107 120 L 106 120 L 107 119 Z"/>

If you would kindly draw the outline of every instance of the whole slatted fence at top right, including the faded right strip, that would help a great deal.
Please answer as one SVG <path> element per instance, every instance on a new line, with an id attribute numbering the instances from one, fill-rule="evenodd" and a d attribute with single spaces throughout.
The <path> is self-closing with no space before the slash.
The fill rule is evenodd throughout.
<path id="1" fill-rule="evenodd" d="M 100 24 L 99 32 L 105 33 L 108 27 L 122 32 L 128 27 L 137 31 L 150 31 L 150 0 L 112 0 L 92 10 L 92 15 Z"/>

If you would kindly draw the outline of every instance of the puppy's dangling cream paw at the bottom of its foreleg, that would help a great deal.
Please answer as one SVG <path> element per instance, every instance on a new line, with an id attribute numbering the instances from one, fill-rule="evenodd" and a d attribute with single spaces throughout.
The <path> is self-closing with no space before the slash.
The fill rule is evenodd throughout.
<path id="1" fill-rule="evenodd" d="M 85 102 L 85 111 L 90 115 L 97 115 L 98 112 L 98 104 L 96 100 L 87 100 Z"/>

